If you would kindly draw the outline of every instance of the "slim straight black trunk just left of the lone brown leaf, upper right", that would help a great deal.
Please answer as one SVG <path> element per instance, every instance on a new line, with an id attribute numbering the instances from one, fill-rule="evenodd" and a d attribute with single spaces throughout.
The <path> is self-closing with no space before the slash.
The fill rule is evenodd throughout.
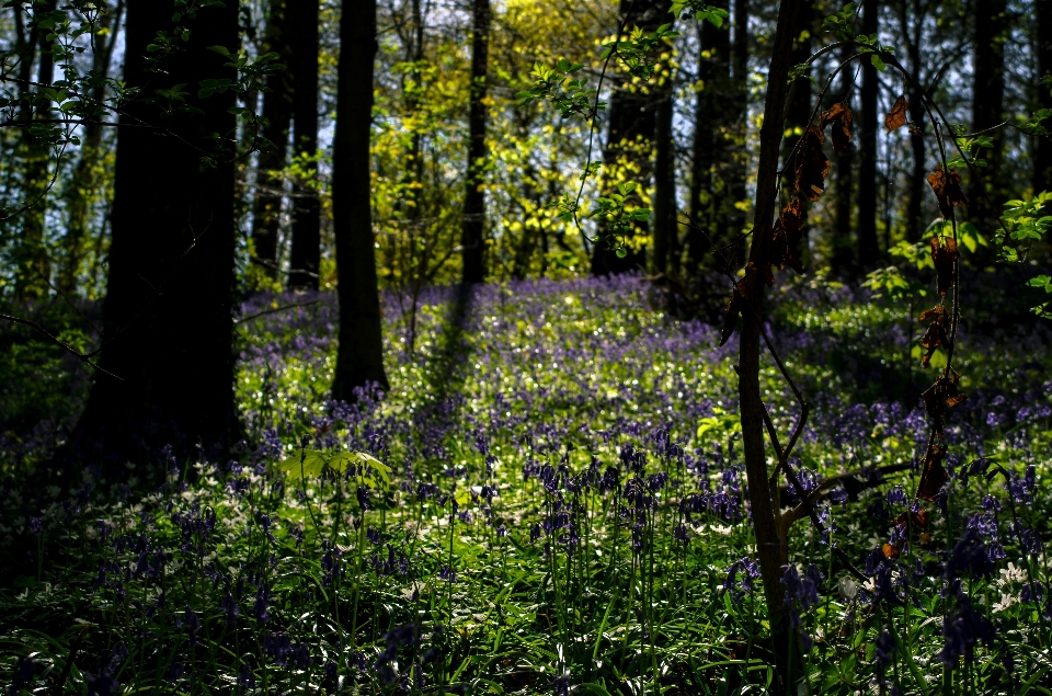
<path id="1" fill-rule="evenodd" d="M 862 2 L 862 34 L 878 31 L 878 0 Z M 879 96 L 877 68 L 862 61 L 862 123 L 859 137 L 858 163 L 858 264 L 871 270 L 880 260 L 877 240 L 877 100 Z"/>

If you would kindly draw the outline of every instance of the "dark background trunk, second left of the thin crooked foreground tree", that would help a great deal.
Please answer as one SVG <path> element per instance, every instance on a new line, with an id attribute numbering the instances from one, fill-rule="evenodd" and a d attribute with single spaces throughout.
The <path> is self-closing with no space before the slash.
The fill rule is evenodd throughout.
<path id="1" fill-rule="evenodd" d="M 727 0 L 714 7 L 727 9 Z M 723 219 L 729 206 L 727 182 L 718 181 L 716 171 L 722 166 L 727 171 L 729 161 L 718 162 L 720 155 L 725 160 L 733 158 L 727 151 L 729 128 L 734 123 L 733 110 L 727 109 L 727 100 L 733 99 L 730 83 L 731 42 L 729 27 L 717 27 L 709 22 L 701 23 L 701 53 L 698 55 L 698 91 L 694 112 L 694 147 L 690 162 L 690 218 L 691 227 L 687 231 L 687 265 L 697 274 L 705 263 L 711 242 L 724 243 L 721 232 L 727 227 Z M 719 189 L 719 191 L 718 191 Z M 720 195 L 719 199 L 717 196 Z"/>

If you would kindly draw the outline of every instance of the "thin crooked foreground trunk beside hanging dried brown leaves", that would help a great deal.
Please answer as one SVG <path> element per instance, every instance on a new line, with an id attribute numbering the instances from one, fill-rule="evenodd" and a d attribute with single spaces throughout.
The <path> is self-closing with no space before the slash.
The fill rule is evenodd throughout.
<path id="1" fill-rule="evenodd" d="M 791 27 L 798 0 L 781 3 L 778 27 L 774 37 L 770 69 L 767 72 L 767 96 L 764 105 L 764 125 L 759 133 L 759 168 L 756 179 L 756 216 L 753 242 L 748 253 L 751 263 L 761 265 L 767 258 L 771 237 L 771 220 L 777 203 L 778 155 L 782 137 L 782 114 L 786 106 L 786 81 L 789 76 L 792 52 Z M 745 296 L 746 308 L 742 312 L 742 332 L 739 343 L 739 399 L 742 418 L 742 442 L 745 456 L 745 475 L 748 480 L 748 501 L 759 570 L 764 581 L 764 595 L 770 620 L 775 660 L 782 684 L 780 693 L 789 689 L 796 677 L 789 659 L 789 623 L 785 606 L 785 586 L 781 584 L 782 566 L 788 562 L 785 539 L 779 538 L 775 521 L 775 503 L 768 483 L 767 456 L 764 446 L 764 402 L 759 390 L 759 327 L 763 321 L 763 305 L 766 285 L 761 278 Z M 777 491 L 776 491 L 777 492 Z"/>

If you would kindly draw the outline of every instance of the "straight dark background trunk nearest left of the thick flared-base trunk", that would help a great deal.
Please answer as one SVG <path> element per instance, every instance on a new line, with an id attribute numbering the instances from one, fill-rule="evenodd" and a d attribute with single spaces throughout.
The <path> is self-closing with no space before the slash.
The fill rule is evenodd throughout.
<path id="1" fill-rule="evenodd" d="M 293 152 L 313 158 L 318 150 L 318 0 L 294 0 L 286 10 L 291 52 Z M 317 290 L 321 269 L 321 203 L 317 163 L 293 182 L 293 250 L 289 287 Z"/>

